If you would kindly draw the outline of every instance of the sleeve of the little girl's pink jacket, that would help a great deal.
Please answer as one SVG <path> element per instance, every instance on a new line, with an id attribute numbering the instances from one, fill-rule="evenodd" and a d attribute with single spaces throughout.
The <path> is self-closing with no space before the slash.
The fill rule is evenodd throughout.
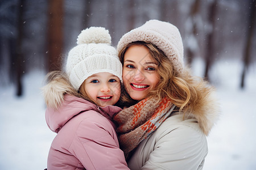
<path id="1" fill-rule="evenodd" d="M 129 169 L 114 133 L 109 122 L 102 126 L 86 119 L 77 129 L 71 150 L 86 169 Z"/>

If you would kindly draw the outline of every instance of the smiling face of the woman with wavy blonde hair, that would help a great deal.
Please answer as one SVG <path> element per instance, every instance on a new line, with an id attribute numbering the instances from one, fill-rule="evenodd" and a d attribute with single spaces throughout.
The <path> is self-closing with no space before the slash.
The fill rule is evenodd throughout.
<path id="1" fill-rule="evenodd" d="M 159 83 L 158 64 L 146 46 L 130 46 L 123 58 L 123 85 L 130 97 L 142 100 Z"/>

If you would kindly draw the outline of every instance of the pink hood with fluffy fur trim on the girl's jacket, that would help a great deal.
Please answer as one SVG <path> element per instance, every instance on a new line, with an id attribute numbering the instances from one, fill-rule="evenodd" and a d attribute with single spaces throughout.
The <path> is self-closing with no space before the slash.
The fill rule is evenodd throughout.
<path id="1" fill-rule="evenodd" d="M 113 105 L 98 107 L 89 101 L 70 95 L 71 87 L 64 79 L 53 79 L 43 87 L 46 101 L 46 122 L 49 128 L 58 133 L 74 116 L 86 111 L 96 111 L 109 120 L 122 109 Z"/>

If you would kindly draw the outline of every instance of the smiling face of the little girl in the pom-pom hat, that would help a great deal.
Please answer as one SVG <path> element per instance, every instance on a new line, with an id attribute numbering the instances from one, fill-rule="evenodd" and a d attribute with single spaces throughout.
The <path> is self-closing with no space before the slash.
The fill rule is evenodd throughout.
<path id="1" fill-rule="evenodd" d="M 85 92 L 101 107 L 114 105 L 121 94 L 120 80 L 117 76 L 106 72 L 93 74 L 85 79 L 80 91 Z"/>

